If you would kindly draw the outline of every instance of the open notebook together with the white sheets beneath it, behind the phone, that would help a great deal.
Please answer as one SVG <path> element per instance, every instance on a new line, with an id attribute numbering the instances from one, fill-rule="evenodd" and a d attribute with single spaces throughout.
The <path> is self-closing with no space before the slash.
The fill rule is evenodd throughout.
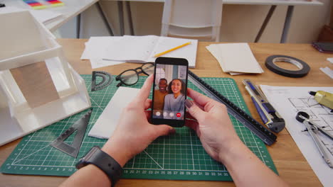
<path id="1" fill-rule="evenodd" d="M 92 37 L 85 43 L 85 51 L 81 60 L 90 60 L 93 69 L 122 62 L 155 62 L 154 55 L 186 42 L 191 42 L 191 44 L 168 52 L 162 57 L 185 58 L 189 61 L 189 67 L 195 67 L 198 40 L 156 35 Z"/>

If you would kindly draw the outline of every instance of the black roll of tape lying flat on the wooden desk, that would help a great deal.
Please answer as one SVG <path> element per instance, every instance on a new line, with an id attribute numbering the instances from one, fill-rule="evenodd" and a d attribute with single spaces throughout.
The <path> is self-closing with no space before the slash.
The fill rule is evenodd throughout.
<path id="1" fill-rule="evenodd" d="M 290 64 L 294 64 L 296 67 L 300 68 L 299 70 L 289 70 L 282 69 L 278 67 L 275 62 L 289 62 Z M 275 72 L 275 74 L 280 74 L 285 77 L 305 77 L 310 72 L 310 66 L 299 60 L 295 57 L 289 57 L 285 55 L 272 55 L 266 59 L 265 66 L 270 69 L 270 71 Z"/>

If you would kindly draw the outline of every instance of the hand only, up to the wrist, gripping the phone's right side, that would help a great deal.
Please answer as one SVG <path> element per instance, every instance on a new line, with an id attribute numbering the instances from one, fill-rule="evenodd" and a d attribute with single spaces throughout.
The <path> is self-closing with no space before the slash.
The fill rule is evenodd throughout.
<path id="1" fill-rule="evenodd" d="M 232 147 L 242 144 L 226 111 L 226 106 L 192 89 L 187 94 L 194 101 L 186 99 L 185 106 L 198 123 L 185 125 L 196 131 L 206 152 L 219 162 Z"/>

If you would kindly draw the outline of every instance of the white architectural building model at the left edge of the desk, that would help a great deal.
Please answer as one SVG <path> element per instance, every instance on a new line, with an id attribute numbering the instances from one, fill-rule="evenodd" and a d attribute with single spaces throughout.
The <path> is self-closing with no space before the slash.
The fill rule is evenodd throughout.
<path id="1" fill-rule="evenodd" d="M 29 11 L 1 11 L 0 25 L 0 146 L 90 108 L 85 82 Z"/>

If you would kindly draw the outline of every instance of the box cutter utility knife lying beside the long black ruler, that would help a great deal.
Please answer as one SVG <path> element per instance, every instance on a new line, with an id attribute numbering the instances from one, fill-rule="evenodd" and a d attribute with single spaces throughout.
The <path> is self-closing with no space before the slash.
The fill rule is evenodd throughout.
<path id="1" fill-rule="evenodd" d="M 268 102 L 267 98 L 260 89 L 252 84 L 249 79 L 244 79 L 245 89 L 250 94 L 252 101 L 257 109 L 261 120 L 273 132 L 280 132 L 285 128 L 285 120 L 280 117 L 275 108 Z"/>

